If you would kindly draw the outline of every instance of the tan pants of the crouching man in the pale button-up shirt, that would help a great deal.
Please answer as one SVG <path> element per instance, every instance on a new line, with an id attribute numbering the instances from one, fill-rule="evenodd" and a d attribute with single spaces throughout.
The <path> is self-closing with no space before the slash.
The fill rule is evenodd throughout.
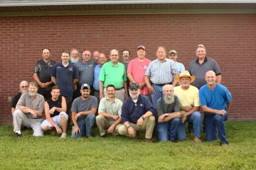
<path id="1" fill-rule="evenodd" d="M 107 118 L 105 118 L 102 115 L 97 115 L 97 117 L 96 117 L 96 124 L 97 124 L 97 127 L 100 130 L 100 136 L 105 135 L 106 134 L 106 130 L 108 128 L 110 128 L 110 126 L 113 125 L 114 122 L 115 122 L 115 120 L 108 120 Z M 117 125 L 114 128 L 114 131 L 112 132 L 112 135 L 114 135 L 114 136 L 119 135 L 118 130 L 119 130 L 120 126 L 121 126 L 121 124 Z"/>

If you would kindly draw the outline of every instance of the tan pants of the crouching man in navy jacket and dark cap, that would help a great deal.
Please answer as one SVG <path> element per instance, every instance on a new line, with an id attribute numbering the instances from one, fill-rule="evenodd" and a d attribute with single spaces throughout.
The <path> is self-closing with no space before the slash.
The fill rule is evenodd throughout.
<path id="1" fill-rule="evenodd" d="M 134 128 L 135 131 L 146 130 L 145 137 L 147 139 L 151 139 L 152 138 L 152 133 L 153 133 L 153 130 L 154 130 L 154 125 L 155 125 L 155 117 L 154 117 L 154 115 L 151 115 L 151 116 L 149 116 L 149 118 L 145 118 L 145 120 L 142 123 L 142 126 L 137 126 L 137 124 L 134 124 L 134 123 L 129 123 L 129 125 L 132 128 Z M 129 137 L 132 137 L 131 135 L 129 135 L 129 132 L 128 132 L 125 125 L 120 126 L 119 134 L 120 135 L 127 135 Z"/>

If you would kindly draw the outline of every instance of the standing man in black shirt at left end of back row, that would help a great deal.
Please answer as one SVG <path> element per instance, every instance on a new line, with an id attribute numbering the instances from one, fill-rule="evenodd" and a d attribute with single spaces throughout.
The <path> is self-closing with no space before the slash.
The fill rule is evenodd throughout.
<path id="1" fill-rule="evenodd" d="M 33 72 L 33 79 L 39 84 L 38 94 L 41 94 L 46 100 L 50 99 L 50 89 L 53 86 L 53 81 L 50 77 L 50 72 L 53 69 L 55 62 L 50 60 L 50 49 L 42 50 L 43 60 L 36 62 Z"/>

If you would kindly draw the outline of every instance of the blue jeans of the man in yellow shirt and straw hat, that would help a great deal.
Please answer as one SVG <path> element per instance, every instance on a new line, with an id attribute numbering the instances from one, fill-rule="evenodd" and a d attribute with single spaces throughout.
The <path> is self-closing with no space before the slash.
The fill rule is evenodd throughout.
<path id="1" fill-rule="evenodd" d="M 201 137 L 201 128 L 202 128 L 202 115 L 200 112 L 196 111 L 191 115 L 188 115 L 186 121 L 178 126 L 178 140 L 186 140 L 186 123 L 193 122 L 193 129 L 195 131 L 195 137 Z"/>

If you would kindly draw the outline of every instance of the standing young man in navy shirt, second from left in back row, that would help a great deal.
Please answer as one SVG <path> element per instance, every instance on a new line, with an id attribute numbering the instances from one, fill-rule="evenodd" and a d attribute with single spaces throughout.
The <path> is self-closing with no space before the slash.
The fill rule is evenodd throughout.
<path id="1" fill-rule="evenodd" d="M 51 72 L 51 79 L 54 84 L 60 87 L 60 96 L 65 97 L 65 101 L 67 103 L 67 113 L 69 114 L 74 86 L 79 80 L 78 69 L 74 64 L 69 62 L 70 56 L 68 51 L 63 51 L 61 53 L 61 60 L 54 65 Z M 70 118 L 68 119 L 68 125 L 70 123 Z"/>

